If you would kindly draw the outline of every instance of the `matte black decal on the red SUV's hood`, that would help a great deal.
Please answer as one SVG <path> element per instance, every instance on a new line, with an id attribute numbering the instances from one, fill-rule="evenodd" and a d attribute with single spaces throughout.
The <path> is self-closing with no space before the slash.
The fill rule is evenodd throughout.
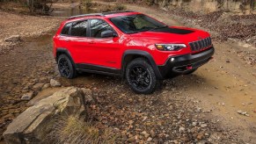
<path id="1" fill-rule="evenodd" d="M 150 30 L 150 32 L 168 32 L 168 33 L 175 33 L 175 34 L 189 34 L 194 31 L 179 29 L 179 28 L 172 28 L 172 27 L 163 27 L 163 28 L 158 28 L 155 30 Z"/>

